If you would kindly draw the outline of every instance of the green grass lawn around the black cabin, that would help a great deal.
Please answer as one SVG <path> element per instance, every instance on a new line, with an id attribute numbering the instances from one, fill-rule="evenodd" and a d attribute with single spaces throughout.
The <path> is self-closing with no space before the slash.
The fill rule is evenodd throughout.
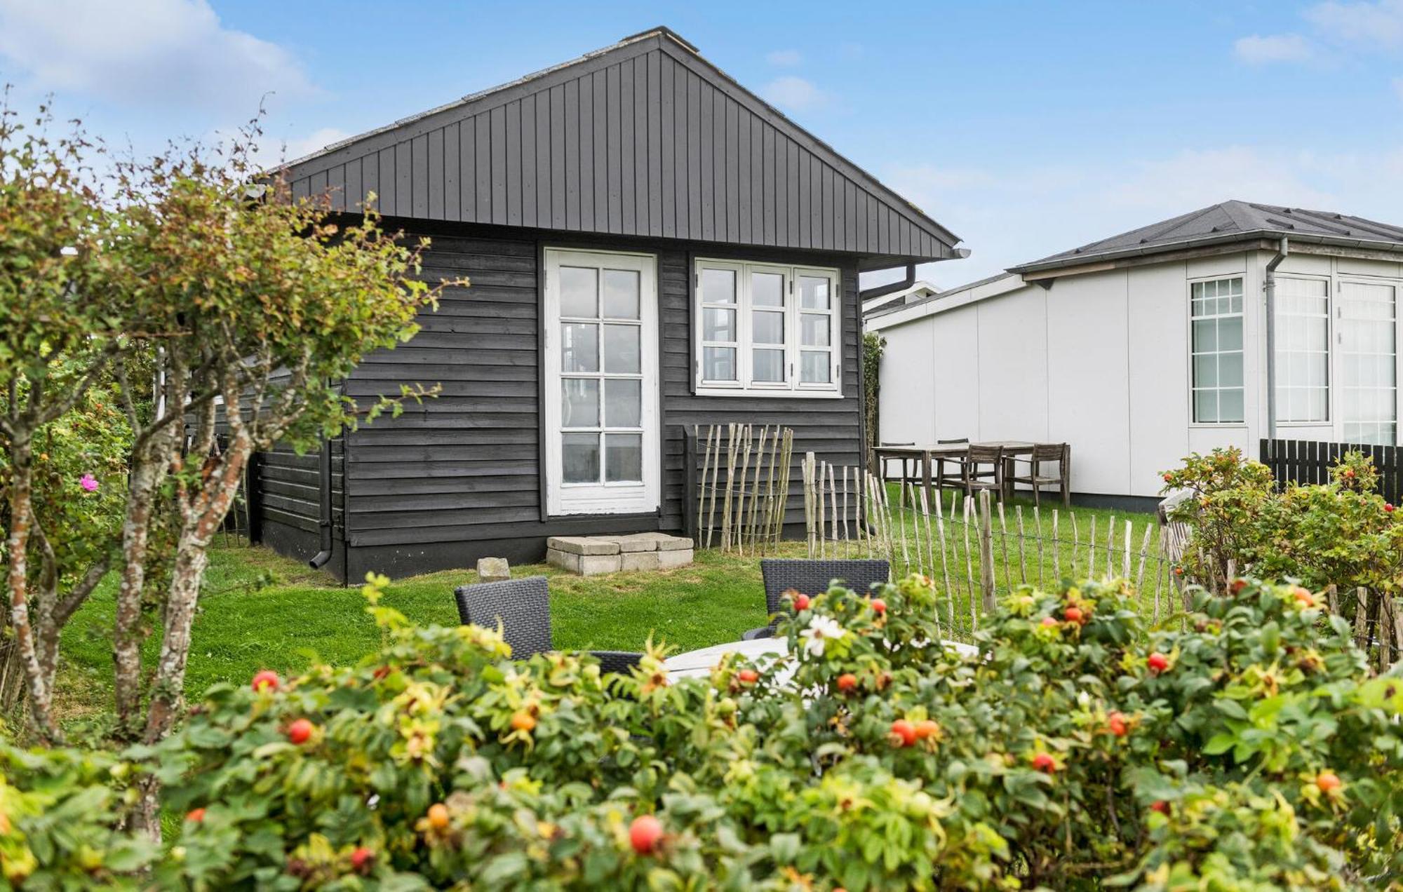
<path id="1" fill-rule="evenodd" d="M 1030 508 L 1031 504 L 1024 511 L 1024 526 L 1031 533 Z M 1078 508 L 1075 513 L 1085 537 L 1093 516 L 1104 530 L 1115 512 Z M 1120 512 L 1118 516 L 1125 515 Z M 1139 529 L 1149 516 L 1135 515 L 1135 519 Z M 1048 512 L 1042 520 L 1051 532 Z M 905 522 L 915 523 L 909 512 Z M 1066 525 L 1065 512 L 1062 525 Z M 784 557 L 805 554 L 804 543 L 781 546 Z M 962 541 L 957 554 L 962 561 Z M 978 550 L 974 557 L 978 558 Z M 1007 579 L 998 551 L 995 564 L 999 588 L 1005 590 Z M 1051 579 L 1049 555 L 1045 564 Z M 1085 572 L 1085 555 L 1079 567 Z M 894 569 L 898 574 L 902 569 L 899 550 Z M 1070 569 L 1066 558 L 1062 569 Z M 550 576 L 551 627 L 554 642 L 561 648 L 640 649 L 652 635 L 680 652 L 735 641 L 745 630 L 765 624 L 759 558 L 752 555 L 697 550 L 692 567 L 589 578 L 561 574 L 546 565 L 515 567 L 512 572 Z M 940 574 L 934 575 L 937 585 L 943 585 Z M 453 588 L 476 578 L 471 571 L 452 569 L 400 579 L 390 586 L 383 603 L 415 623 L 455 624 Z M 968 596 L 958 593 L 954 579 L 951 588 L 957 590 L 957 611 L 965 616 Z M 95 718 L 109 710 L 114 597 L 115 583 L 108 581 L 65 630 L 59 708 L 67 721 Z M 962 637 L 967 630 L 953 631 Z M 146 656 L 154 662 L 160 642 L 153 635 L 146 644 Z M 379 644 L 380 633 L 365 613 L 359 588 L 342 588 L 324 572 L 264 547 L 217 544 L 210 551 L 195 619 L 185 690 L 194 698 L 210 684 L 241 683 L 264 668 L 295 673 L 313 661 L 351 663 Z"/>

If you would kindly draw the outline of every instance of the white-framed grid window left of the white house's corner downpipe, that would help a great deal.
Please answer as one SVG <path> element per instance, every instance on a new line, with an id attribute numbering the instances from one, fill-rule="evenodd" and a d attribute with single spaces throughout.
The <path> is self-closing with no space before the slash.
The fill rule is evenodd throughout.
<path id="1" fill-rule="evenodd" d="M 1242 276 L 1190 285 L 1194 424 L 1242 424 Z"/>

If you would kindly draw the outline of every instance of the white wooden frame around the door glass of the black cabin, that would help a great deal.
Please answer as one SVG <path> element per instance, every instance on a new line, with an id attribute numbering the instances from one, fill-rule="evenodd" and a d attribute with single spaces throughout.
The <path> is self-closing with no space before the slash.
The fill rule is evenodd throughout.
<path id="1" fill-rule="evenodd" d="M 561 334 L 560 334 L 560 268 L 592 266 L 596 269 L 629 269 L 638 272 L 640 370 L 641 370 L 641 431 L 643 480 L 640 482 L 567 484 L 563 477 L 561 426 Z M 546 248 L 546 283 L 543 289 L 544 320 L 544 377 L 546 404 L 543 408 L 546 467 L 546 513 L 565 515 L 623 515 L 655 512 L 661 504 L 661 447 L 659 447 L 659 383 L 658 383 L 658 258 L 654 254 L 627 251 L 596 251 Z M 602 278 L 602 276 L 600 276 Z M 602 289 L 600 289 L 602 290 Z M 602 313 L 602 310 L 600 310 Z M 603 374 L 603 351 L 599 355 Z M 600 425 L 603 425 L 603 387 L 600 387 Z M 599 456 L 605 467 L 603 446 Z M 600 471 L 603 473 L 603 471 Z"/>

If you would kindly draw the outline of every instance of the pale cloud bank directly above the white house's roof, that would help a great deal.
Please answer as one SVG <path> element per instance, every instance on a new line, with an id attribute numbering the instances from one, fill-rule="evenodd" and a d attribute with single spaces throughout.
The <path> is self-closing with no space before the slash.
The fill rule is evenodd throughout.
<path id="1" fill-rule="evenodd" d="M 1319 154 L 1249 146 L 1113 164 L 895 167 L 884 181 L 972 250 L 922 275 L 960 285 L 1228 199 L 1403 223 L 1403 146 Z"/>

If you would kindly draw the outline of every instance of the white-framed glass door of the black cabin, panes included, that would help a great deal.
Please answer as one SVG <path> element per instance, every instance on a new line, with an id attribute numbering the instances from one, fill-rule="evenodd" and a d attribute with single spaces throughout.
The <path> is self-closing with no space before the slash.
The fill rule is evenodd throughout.
<path id="1" fill-rule="evenodd" d="M 546 250 L 546 509 L 658 508 L 657 259 Z"/>

